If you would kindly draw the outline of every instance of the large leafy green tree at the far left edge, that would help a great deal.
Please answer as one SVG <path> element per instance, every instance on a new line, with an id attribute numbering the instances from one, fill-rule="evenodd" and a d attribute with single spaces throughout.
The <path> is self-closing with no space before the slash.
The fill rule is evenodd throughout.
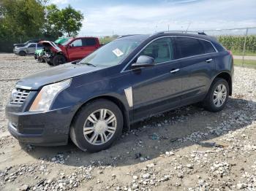
<path id="1" fill-rule="evenodd" d="M 42 34 L 45 7 L 39 0 L 1 0 L 1 30 L 8 36 Z"/>

